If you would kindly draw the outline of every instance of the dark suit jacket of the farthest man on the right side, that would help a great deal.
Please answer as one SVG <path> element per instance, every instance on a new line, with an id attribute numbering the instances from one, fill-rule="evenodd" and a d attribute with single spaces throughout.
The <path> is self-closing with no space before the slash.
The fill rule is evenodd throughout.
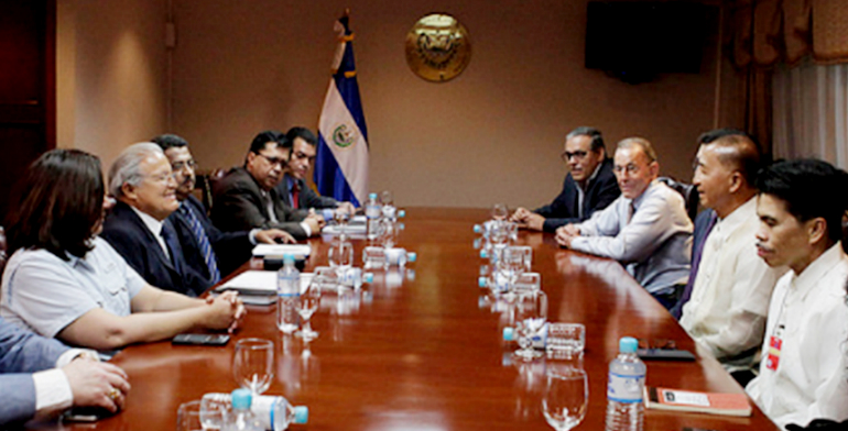
<path id="1" fill-rule="evenodd" d="M 551 205 L 537 208 L 534 212 L 545 218 L 544 231 L 553 232 L 556 228 L 568 223 L 579 223 L 595 211 L 607 208 L 616 200 L 621 191 L 612 173 L 612 159 L 607 158 L 600 164 L 598 175 L 589 181 L 589 187 L 583 197 L 583 217 L 577 209 L 577 183 L 569 173 L 563 181 L 563 191 Z"/>

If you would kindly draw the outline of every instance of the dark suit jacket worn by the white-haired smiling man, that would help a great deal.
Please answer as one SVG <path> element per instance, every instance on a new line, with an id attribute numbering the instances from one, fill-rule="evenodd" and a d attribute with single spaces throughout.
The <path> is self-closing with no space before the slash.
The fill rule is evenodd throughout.
<path id="1" fill-rule="evenodd" d="M 165 226 L 175 232 L 171 219 L 164 220 Z M 178 244 L 171 254 L 177 262 L 182 273 L 165 255 L 162 246 L 148 229 L 139 214 L 124 202 L 116 203 L 109 216 L 104 221 L 104 231 L 100 236 L 121 255 L 127 263 L 150 285 L 161 289 L 173 290 L 188 296 L 197 296 L 209 288 L 208 278 L 204 278 L 193 269 L 183 257 L 183 250 Z"/>

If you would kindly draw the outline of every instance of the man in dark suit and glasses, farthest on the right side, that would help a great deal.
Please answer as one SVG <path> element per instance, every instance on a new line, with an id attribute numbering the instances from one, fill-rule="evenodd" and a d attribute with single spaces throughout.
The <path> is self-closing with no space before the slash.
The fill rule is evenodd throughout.
<path id="1" fill-rule="evenodd" d="M 511 221 L 524 229 L 555 232 L 562 225 L 588 219 L 621 195 L 612 174 L 612 162 L 607 158 L 604 137 L 597 129 L 577 128 L 569 132 L 562 158 L 570 172 L 563 181 L 559 196 L 551 205 L 532 212 L 518 208 Z"/>

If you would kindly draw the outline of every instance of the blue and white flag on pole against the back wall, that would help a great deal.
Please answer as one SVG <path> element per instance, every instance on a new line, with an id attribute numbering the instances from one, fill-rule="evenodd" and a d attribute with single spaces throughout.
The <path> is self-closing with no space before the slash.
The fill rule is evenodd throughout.
<path id="1" fill-rule="evenodd" d="M 354 33 L 345 14 L 333 27 L 338 47 L 318 120 L 314 180 L 318 192 L 360 207 L 368 195 L 368 130 L 354 65 Z"/>

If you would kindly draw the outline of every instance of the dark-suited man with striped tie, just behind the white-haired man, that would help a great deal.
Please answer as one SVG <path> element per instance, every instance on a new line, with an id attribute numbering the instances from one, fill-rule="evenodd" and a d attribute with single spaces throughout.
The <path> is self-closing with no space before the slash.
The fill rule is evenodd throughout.
<path id="1" fill-rule="evenodd" d="M 206 210 L 192 195 L 196 177 L 196 163 L 188 151 L 188 142 L 174 134 L 154 137 L 165 153 L 176 180 L 176 199 L 180 208 L 170 219 L 176 229 L 185 263 L 216 284 L 251 256 L 258 242 L 294 242 L 294 237 L 279 229 L 221 232 L 206 214 Z"/>

